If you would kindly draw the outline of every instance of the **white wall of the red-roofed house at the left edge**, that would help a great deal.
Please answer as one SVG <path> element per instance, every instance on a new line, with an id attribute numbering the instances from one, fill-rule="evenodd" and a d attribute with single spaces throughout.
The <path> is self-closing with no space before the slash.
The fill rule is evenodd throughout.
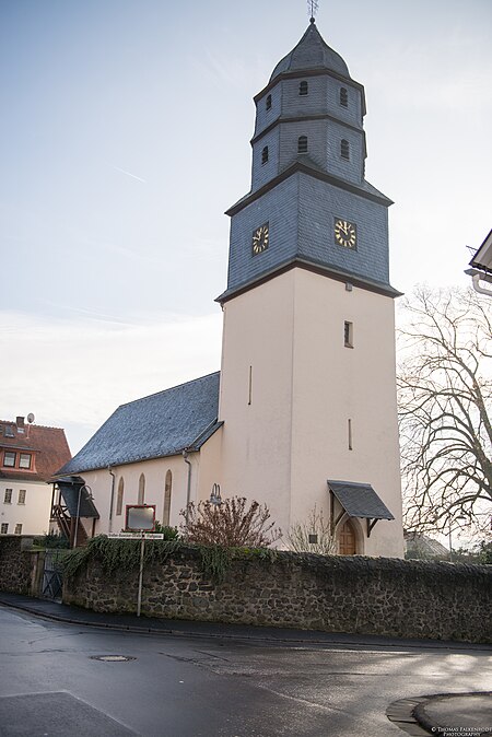
<path id="1" fill-rule="evenodd" d="M 12 503 L 5 504 L 5 489 L 12 489 Z M 19 491 L 25 489 L 25 504 L 19 504 Z M 9 535 L 22 524 L 22 535 L 45 535 L 49 529 L 52 487 L 44 481 L 2 479 L 0 483 L 0 523 L 9 524 Z"/>

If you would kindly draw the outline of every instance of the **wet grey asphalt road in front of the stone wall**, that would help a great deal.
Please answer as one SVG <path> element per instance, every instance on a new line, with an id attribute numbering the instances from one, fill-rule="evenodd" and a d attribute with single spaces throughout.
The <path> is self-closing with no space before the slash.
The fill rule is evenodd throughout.
<path id="1" fill-rule="evenodd" d="M 258 645 L 7 608 L 0 636 L 2 737 L 405 737 L 393 701 L 492 688 L 490 650 L 462 645 Z"/>

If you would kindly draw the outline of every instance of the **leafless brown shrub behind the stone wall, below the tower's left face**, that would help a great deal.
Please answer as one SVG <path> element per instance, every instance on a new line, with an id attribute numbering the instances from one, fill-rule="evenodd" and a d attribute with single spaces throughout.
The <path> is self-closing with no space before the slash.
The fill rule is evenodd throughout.
<path id="1" fill-rule="evenodd" d="M 281 537 L 280 529 L 269 522 L 267 505 L 248 503 L 244 496 L 232 496 L 220 504 L 190 502 L 180 514 L 186 520 L 181 528 L 189 542 L 267 548 Z"/>

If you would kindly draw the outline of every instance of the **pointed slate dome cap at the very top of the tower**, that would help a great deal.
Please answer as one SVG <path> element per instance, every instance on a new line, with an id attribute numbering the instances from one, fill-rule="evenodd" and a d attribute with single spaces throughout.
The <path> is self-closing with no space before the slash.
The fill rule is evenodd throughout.
<path id="1" fill-rule="evenodd" d="M 325 43 L 315 23 L 311 23 L 298 44 L 273 69 L 270 82 L 284 72 L 327 69 L 350 78 L 349 68 L 337 51 Z"/>

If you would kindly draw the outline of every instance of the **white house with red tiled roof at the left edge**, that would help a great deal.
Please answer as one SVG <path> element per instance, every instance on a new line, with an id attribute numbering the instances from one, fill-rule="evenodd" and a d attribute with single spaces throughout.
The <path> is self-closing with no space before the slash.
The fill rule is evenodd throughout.
<path id="1" fill-rule="evenodd" d="M 30 416 L 31 417 L 31 416 Z M 0 533 L 43 535 L 49 529 L 52 484 L 70 459 L 65 431 L 0 420 Z"/>

